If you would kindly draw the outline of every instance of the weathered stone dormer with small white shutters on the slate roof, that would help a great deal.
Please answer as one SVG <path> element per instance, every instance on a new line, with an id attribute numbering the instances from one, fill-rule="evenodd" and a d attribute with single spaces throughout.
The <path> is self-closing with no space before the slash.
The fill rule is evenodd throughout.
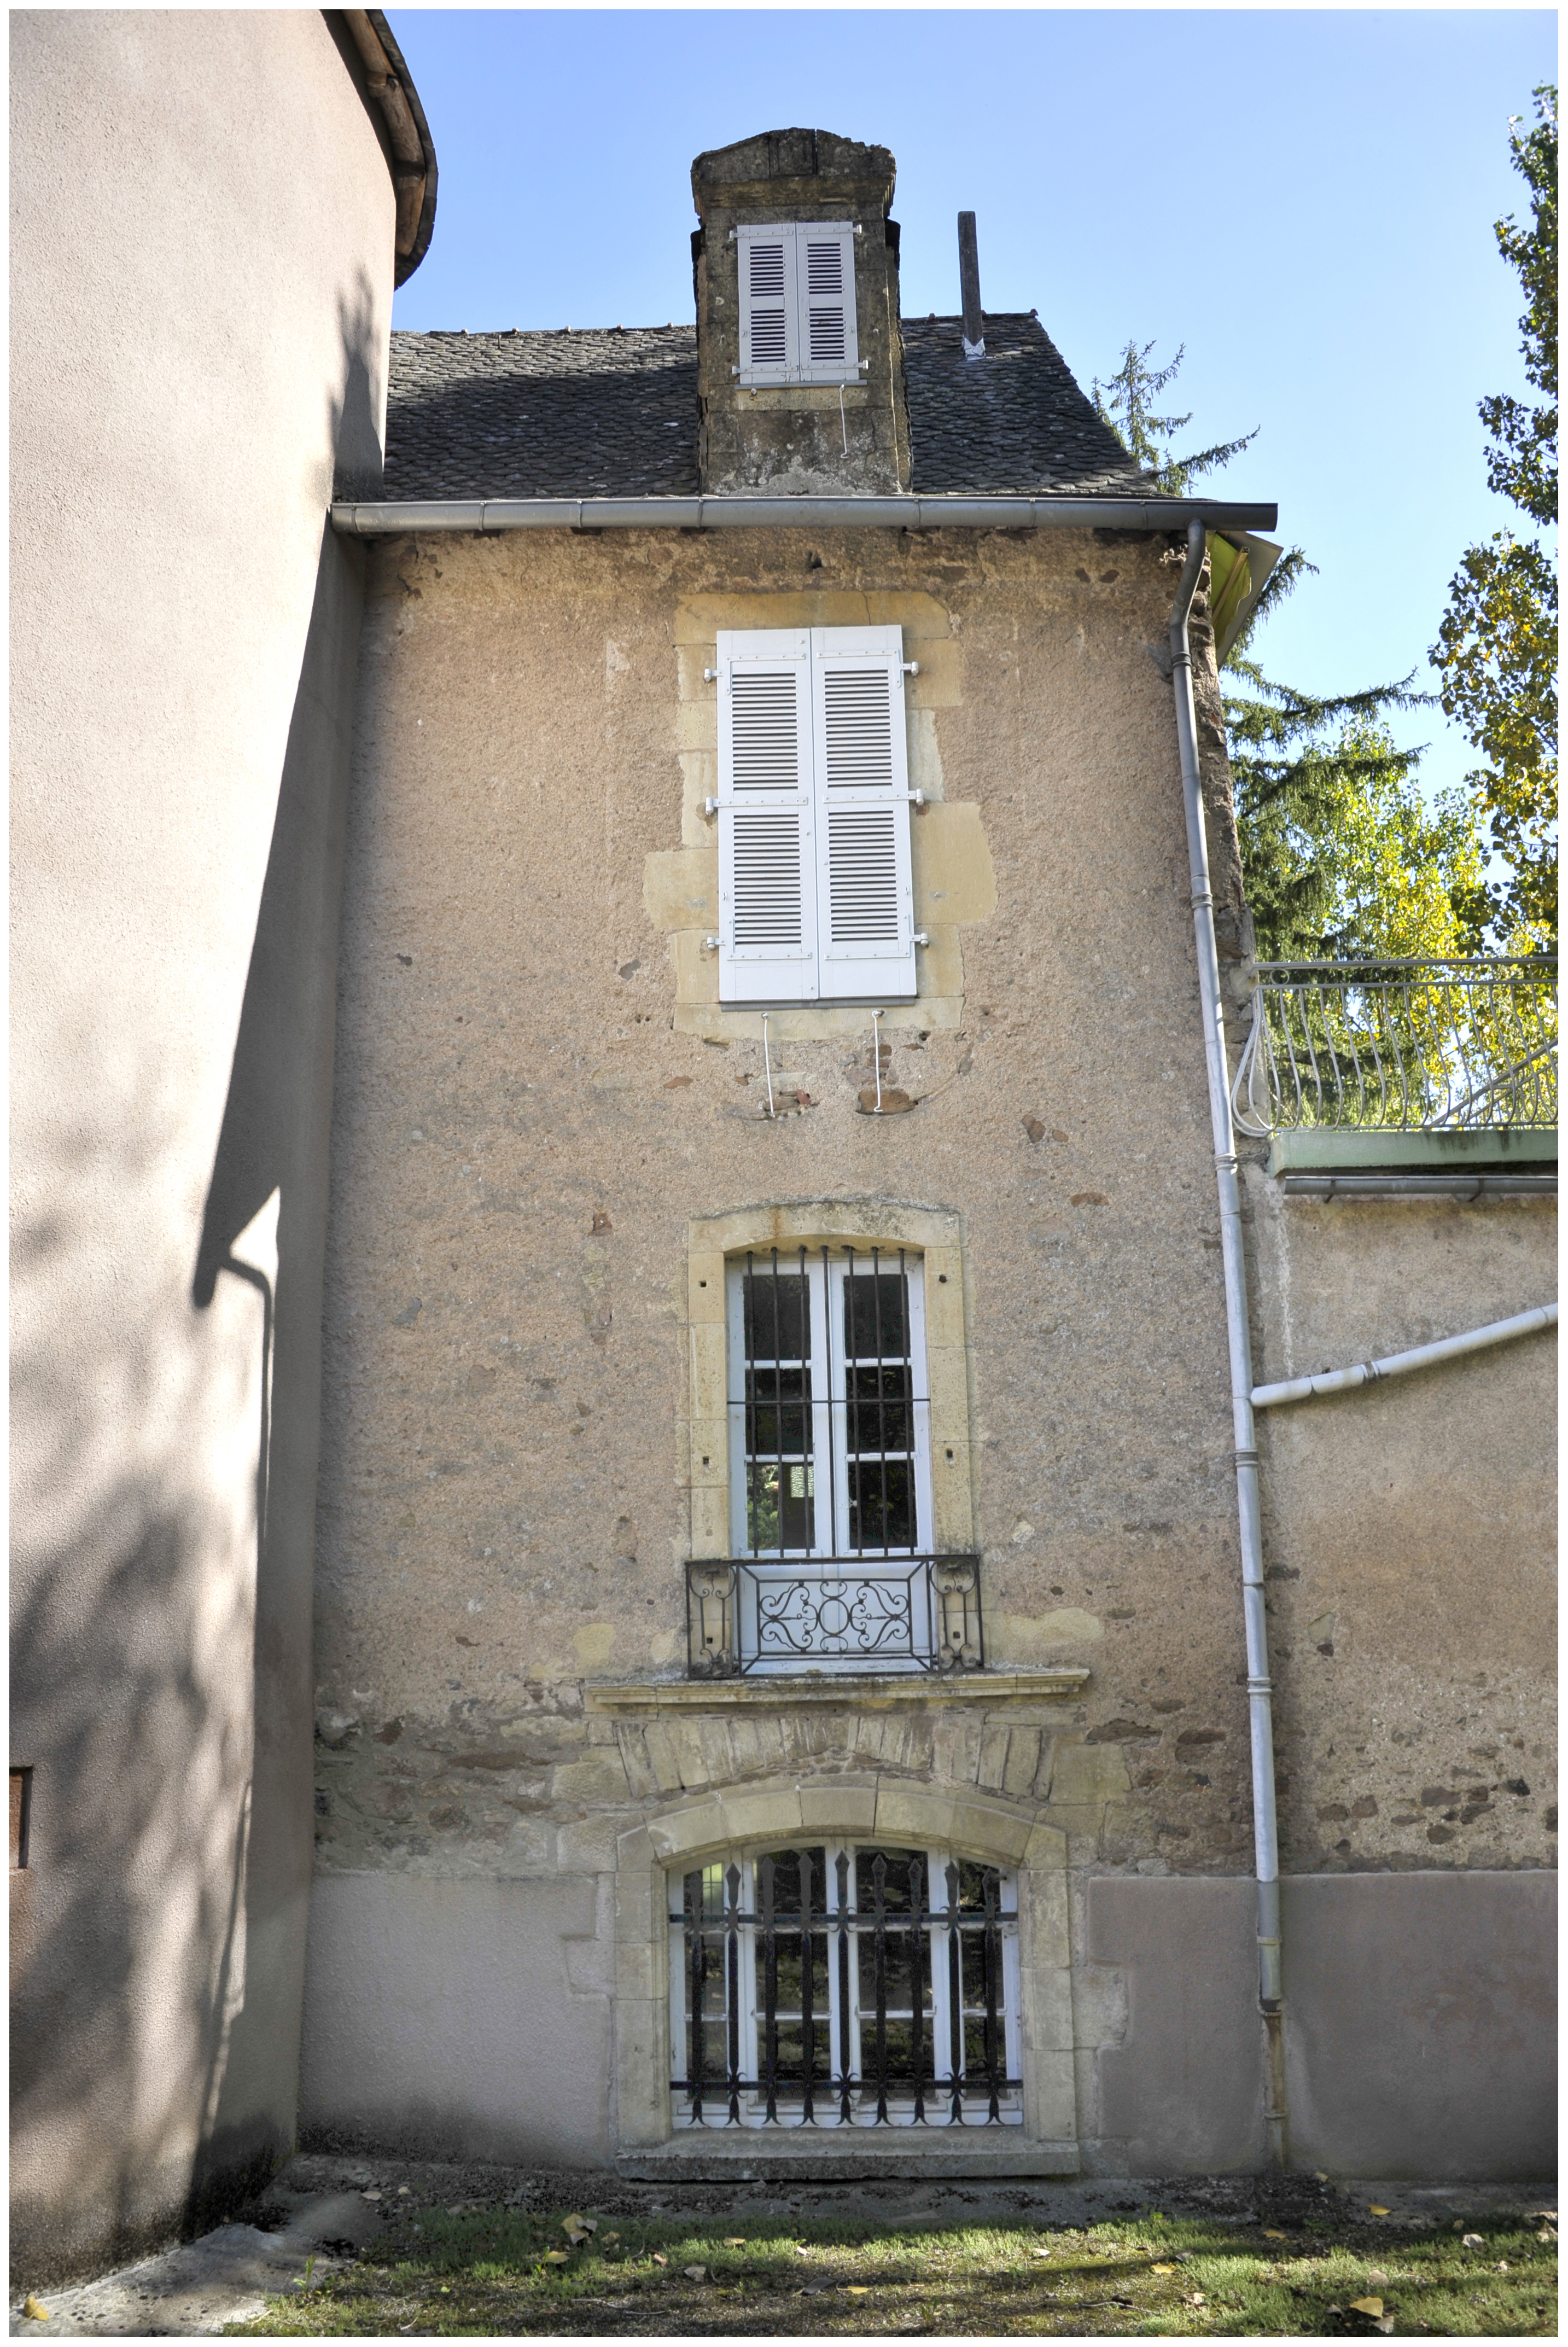
<path id="1" fill-rule="evenodd" d="M 908 488 L 894 160 L 761 131 L 692 164 L 702 488 Z"/>

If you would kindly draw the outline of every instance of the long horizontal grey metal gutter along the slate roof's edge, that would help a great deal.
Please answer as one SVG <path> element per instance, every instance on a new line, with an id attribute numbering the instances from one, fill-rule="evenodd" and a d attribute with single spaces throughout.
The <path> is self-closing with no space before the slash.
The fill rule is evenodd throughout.
<path id="1" fill-rule="evenodd" d="M 401 498 L 343 502 L 345 537 L 425 530 L 1272 530 L 1279 507 L 1204 498 Z"/>

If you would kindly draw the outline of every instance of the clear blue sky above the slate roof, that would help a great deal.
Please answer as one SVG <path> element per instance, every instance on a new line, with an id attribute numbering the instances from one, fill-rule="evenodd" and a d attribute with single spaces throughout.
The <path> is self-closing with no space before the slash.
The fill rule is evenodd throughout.
<path id="1" fill-rule="evenodd" d="M 1526 392 L 1493 221 L 1526 211 L 1509 115 L 1556 75 L 1549 9 L 392 9 L 441 167 L 399 326 L 692 317 L 690 157 L 812 124 L 899 160 L 904 307 L 1040 310 L 1089 390 L 1129 336 L 1192 441 L 1319 566 L 1258 650 L 1317 692 L 1430 683 L 1486 491 L 1476 401 Z M 1441 711 L 1422 782 L 1472 753 Z"/>

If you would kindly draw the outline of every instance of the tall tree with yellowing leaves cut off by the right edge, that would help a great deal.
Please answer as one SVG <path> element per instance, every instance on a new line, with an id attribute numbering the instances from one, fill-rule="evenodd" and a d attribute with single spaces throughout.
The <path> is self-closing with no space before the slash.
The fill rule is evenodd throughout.
<path id="1" fill-rule="evenodd" d="M 1523 371 L 1540 406 L 1481 401 L 1491 434 L 1486 483 L 1537 528 L 1556 521 L 1556 87 L 1535 92 L 1535 127 L 1514 117 L 1514 169 L 1530 190 L 1530 223 L 1495 223 L 1519 270 Z M 1469 786 L 1507 878 L 1481 890 L 1493 927 L 1556 951 L 1556 566 L 1540 537 L 1498 530 L 1467 547 L 1432 645 L 1441 704 L 1481 765 Z"/>

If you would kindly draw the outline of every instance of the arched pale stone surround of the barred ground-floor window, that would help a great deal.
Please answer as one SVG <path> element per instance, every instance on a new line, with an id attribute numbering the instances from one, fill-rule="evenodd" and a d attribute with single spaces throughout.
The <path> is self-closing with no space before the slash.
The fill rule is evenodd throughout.
<path id="1" fill-rule="evenodd" d="M 800 1835 L 941 1845 L 958 1856 L 1016 1868 L 1023 2126 L 1009 2126 L 1005 2143 L 998 2143 L 1002 2129 L 976 2126 L 969 2140 L 965 2131 L 937 2129 L 930 2157 L 958 2166 L 1002 2155 L 1040 2173 L 1075 2171 L 1066 1833 L 967 1791 L 883 1774 L 817 1784 L 770 1777 L 744 1788 L 690 1793 L 617 1838 L 613 2058 L 622 2155 L 667 2145 L 671 2164 L 690 2152 L 725 2157 L 730 2133 L 746 2138 L 739 2152 L 758 2155 L 756 2129 L 711 2129 L 692 2145 L 692 2131 L 671 2124 L 669 1880 L 732 1852 L 770 1849 Z M 807 2159 L 817 2148 L 824 2157 L 840 2155 L 840 2131 L 824 2129 L 822 2145 L 798 2145 Z M 899 2152 L 908 2155 L 908 2143 Z"/>

